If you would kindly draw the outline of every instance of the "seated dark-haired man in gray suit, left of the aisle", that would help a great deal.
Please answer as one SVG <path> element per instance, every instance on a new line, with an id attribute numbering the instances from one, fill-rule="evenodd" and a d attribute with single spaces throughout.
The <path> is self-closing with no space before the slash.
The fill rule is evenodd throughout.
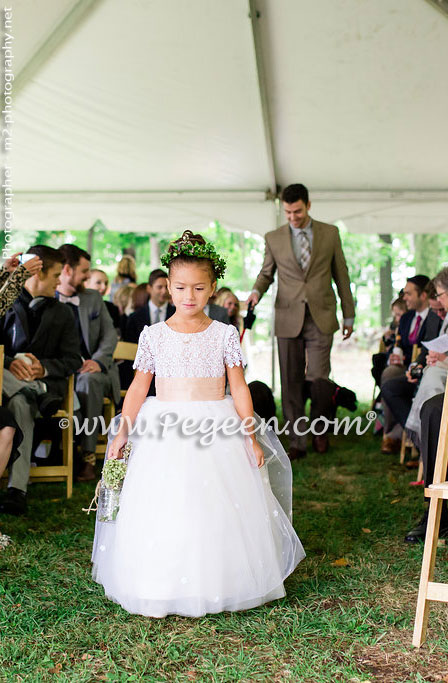
<path id="1" fill-rule="evenodd" d="M 99 292 L 86 289 L 84 283 L 90 274 L 90 255 L 74 244 L 63 244 L 59 251 L 64 267 L 56 296 L 70 306 L 79 333 L 83 364 L 76 379 L 76 394 L 81 404 L 81 415 L 88 419 L 90 432 L 92 419 L 103 414 L 103 400 L 120 400 L 120 378 L 113 360 L 117 333 Z M 81 437 L 83 466 L 78 481 L 95 479 L 95 450 L 99 421 L 93 432 Z"/>

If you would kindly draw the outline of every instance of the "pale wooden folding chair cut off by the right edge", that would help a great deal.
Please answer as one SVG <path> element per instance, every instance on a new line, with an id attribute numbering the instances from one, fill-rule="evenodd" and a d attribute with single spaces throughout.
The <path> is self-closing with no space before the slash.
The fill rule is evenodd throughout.
<path id="1" fill-rule="evenodd" d="M 412 644 L 420 647 L 426 639 L 429 607 L 431 601 L 448 602 L 448 584 L 433 581 L 434 568 L 439 540 L 440 517 L 443 501 L 448 499 L 448 481 L 446 472 L 448 465 L 448 381 L 445 388 L 440 435 L 434 468 L 433 483 L 425 489 L 430 498 L 428 524 L 426 528 L 425 549 L 423 551 L 420 587 L 417 598 L 414 637 Z"/>

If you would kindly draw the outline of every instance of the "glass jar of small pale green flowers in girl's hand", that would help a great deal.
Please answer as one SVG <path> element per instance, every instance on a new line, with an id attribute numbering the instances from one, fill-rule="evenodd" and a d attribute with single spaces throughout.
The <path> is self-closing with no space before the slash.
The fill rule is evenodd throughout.
<path id="1" fill-rule="evenodd" d="M 94 511 L 96 503 L 97 519 L 99 522 L 115 522 L 120 510 L 120 496 L 124 478 L 128 467 L 128 458 L 131 454 L 132 443 L 130 441 L 123 448 L 123 458 L 120 460 L 106 460 L 101 480 L 95 491 L 95 498 L 90 503 L 87 513 Z"/>

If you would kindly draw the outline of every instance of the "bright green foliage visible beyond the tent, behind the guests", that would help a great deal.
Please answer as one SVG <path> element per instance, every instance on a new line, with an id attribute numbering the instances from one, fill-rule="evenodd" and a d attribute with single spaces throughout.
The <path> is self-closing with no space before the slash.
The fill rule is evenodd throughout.
<path id="1" fill-rule="evenodd" d="M 344 224 L 339 224 L 344 253 L 350 272 L 353 294 L 357 302 L 357 329 L 380 326 L 380 282 L 381 265 L 392 260 L 394 295 L 398 294 L 406 277 L 416 272 L 434 276 L 448 264 L 448 235 L 393 235 L 392 244 L 384 244 L 378 235 L 350 233 Z M 217 221 L 202 230 L 227 259 L 225 284 L 244 299 L 250 291 L 263 260 L 264 240 L 248 231 L 230 232 Z M 123 249 L 135 250 L 139 282 L 146 282 L 151 270 L 150 238 L 155 237 L 160 253 L 178 233 L 119 233 L 107 230 L 100 221 L 95 224 L 92 248 L 92 266 L 105 270 L 110 279 L 116 272 Z M 31 244 L 49 244 L 57 247 L 64 242 L 73 242 L 83 249 L 88 248 L 87 231 L 28 231 L 16 232 L 11 244 L 14 250 L 26 250 Z M 0 245 L 1 246 L 1 245 Z M 256 336 L 268 334 L 272 288 L 258 308 L 259 322 Z"/>

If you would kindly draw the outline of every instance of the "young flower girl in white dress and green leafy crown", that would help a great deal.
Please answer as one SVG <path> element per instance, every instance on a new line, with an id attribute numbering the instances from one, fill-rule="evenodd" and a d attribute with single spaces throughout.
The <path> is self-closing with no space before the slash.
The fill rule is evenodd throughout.
<path id="1" fill-rule="evenodd" d="M 116 521 L 96 524 L 93 577 L 135 614 L 249 609 L 283 597 L 305 556 L 290 521 L 291 466 L 272 431 L 239 429 L 253 407 L 238 331 L 203 310 L 223 259 L 185 231 L 162 262 L 176 313 L 140 335 L 107 457 L 128 441 L 132 453 Z"/>

